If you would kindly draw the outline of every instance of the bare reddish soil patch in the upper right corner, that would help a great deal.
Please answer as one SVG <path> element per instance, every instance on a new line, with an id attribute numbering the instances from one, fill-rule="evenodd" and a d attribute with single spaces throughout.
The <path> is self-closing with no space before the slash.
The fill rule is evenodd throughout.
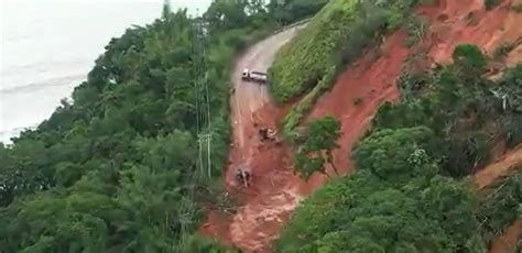
<path id="1" fill-rule="evenodd" d="M 491 55 L 502 43 L 515 42 L 522 35 L 522 14 L 511 10 L 513 1 L 503 0 L 489 11 L 482 0 L 439 2 L 438 7 L 420 10 L 432 23 L 425 43 L 431 46 L 428 55 L 435 63 L 450 62 L 458 44 L 472 43 Z"/>

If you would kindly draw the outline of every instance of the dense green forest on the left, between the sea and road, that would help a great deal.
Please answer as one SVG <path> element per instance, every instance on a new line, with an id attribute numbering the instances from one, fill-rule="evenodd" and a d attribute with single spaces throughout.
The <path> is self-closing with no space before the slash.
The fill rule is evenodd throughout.
<path id="1" fill-rule="evenodd" d="M 109 42 L 72 102 L 0 143 L 0 251 L 227 252 L 192 235 L 204 206 L 229 208 L 211 184 L 227 156 L 236 53 L 278 26 L 261 3 L 216 0 L 205 20 L 165 6 Z"/>

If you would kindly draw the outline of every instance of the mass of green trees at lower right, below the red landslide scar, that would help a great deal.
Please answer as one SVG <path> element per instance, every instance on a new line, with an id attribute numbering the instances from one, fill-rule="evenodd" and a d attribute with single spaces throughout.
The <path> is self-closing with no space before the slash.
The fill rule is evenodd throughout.
<path id="1" fill-rule="evenodd" d="M 458 179 L 496 141 L 522 142 L 522 65 L 491 81 L 486 64 L 459 45 L 453 65 L 404 73 L 401 102 L 383 105 L 354 148 L 356 172 L 297 208 L 278 252 L 483 252 L 520 217 L 522 193 L 518 175 L 478 201 Z"/>

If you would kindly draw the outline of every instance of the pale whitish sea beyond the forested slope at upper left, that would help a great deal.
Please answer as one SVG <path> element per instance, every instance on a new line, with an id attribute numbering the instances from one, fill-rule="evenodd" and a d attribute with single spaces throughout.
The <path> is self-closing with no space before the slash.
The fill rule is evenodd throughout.
<path id="1" fill-rule="evenodd" d="M 171 0 L 202 13 L 210 0 Z M 111 37 L 161 15 L 163 0 L 0 0 L 0 142 L 34 128 L 85 80 Z"/>

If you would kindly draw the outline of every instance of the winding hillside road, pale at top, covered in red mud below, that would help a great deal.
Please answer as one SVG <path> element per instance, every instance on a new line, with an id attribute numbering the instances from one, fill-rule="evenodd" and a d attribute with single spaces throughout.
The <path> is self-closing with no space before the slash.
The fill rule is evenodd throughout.
<path id="1" fill-rule="evenodd" d="M 284 221 L 302 200 L 307 184 L 292 172 L 292 154 L 282 143 L 261 142 L 261 127 L 276 129 L 287 112 L 278 107 L 268 86 L 241 80 L 244 68 L 267 72 L 278 50 L 287 43 L 303 25 L 275 34 L 253 45 L 237 62 L 230 97 L 232 144 L 226 173 L 227 190 L 242 205 L 237 213 L 209 213 L 202 232 L 246 252 L 271 252 Z M 252 185 L 248 188 L 236 180 L 236 169 L 248 167 Z"/>

